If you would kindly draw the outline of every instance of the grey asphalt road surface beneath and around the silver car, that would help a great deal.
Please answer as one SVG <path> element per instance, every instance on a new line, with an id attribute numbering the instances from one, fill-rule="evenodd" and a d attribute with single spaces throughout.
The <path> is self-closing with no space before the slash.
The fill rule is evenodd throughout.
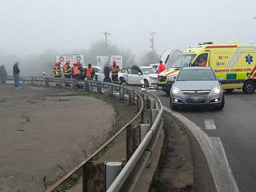
<path id="1" fill-rule="evenodd" d="M 163 91 L 152 93 L 169 108 L 167 94 Z M 256 191 L 256 93 L 244 94 L 237 90 L 230 94 L 226 93 L 225 99 L 223 111 L 214 111 L 206 107 L 186 107 L 178 112 L 198 125 L 209 137 L 220 138 L 239 191 Z M 200 168 L 200 165 L 197 168 L 205 169 Z M 202 171 L 200 174 L 203 176 Z M 199 181 L 206 186 L 207 182 Z"/>

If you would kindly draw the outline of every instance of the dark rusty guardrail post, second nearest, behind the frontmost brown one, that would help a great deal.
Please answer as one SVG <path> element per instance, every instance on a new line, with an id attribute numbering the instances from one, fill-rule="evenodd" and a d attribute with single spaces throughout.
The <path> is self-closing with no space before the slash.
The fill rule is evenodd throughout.
<path id="1" fill-rule="evenodd" d="M 126 162 L 140 145 L 140 126 L 128 125 L 126 128 Z"/>

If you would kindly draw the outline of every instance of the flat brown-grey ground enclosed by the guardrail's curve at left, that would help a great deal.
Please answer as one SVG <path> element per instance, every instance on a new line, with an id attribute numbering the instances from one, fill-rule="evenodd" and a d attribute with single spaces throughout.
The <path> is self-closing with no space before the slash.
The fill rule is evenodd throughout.
<path id="1" fill-rule="evenodd" d="M 106 139 L 114 108 L 72 93 L 0 84 L 0 192 L 43 191 Z"/>

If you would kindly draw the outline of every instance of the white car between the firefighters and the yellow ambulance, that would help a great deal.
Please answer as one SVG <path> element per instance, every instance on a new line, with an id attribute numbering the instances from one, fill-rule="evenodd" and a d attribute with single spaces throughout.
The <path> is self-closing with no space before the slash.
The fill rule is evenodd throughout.
<path id="1" fill-rule="evenodd" d="M 145 87 L 157 84 L 157 69 L 154 67 L 124 68 L 120 72 L 122 83 L 140 84 L 140 80 L 144 80 Z"/>

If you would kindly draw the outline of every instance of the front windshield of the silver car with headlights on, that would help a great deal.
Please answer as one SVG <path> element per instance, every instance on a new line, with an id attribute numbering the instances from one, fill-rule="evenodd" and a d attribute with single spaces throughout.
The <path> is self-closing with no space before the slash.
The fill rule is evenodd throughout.
<path id="1" fill-rule="evenodd" d="M 181 70 L 177 81 L 216 81 L 216 76 L 211 69 Z"/>

